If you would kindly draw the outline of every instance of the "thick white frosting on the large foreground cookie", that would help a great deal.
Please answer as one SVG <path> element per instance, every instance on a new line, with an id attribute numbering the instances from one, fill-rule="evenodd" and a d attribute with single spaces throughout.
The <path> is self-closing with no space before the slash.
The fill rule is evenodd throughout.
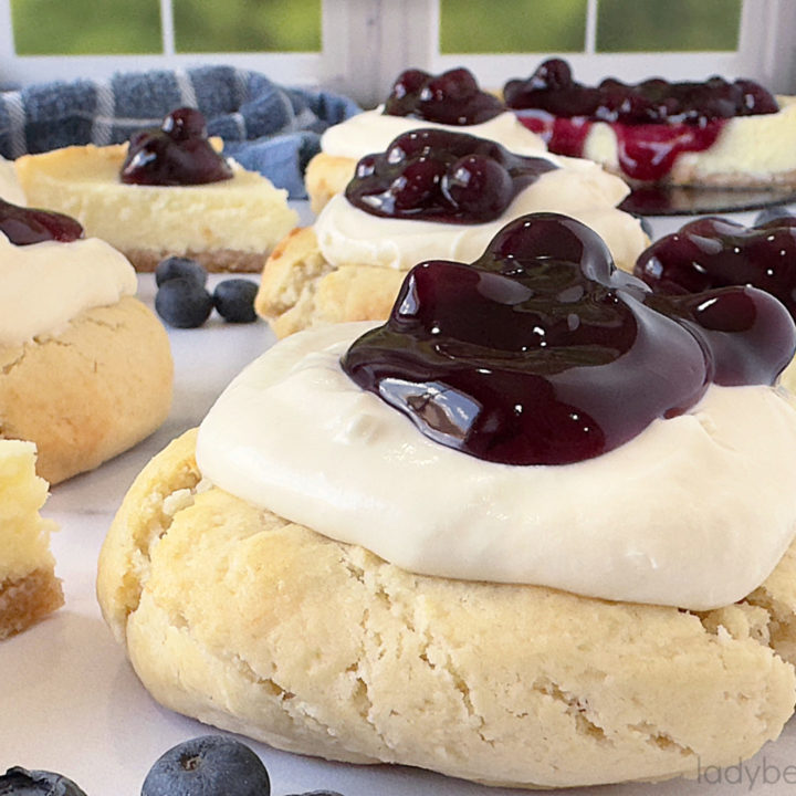
<path id="1" fill-rule="evenodd" d="M 484 462 L 423 437 L 344 374 L 370 323 L 282 341 L 201 425 L 212 483 L 406 569 L 709 609 L 743 598 L 796 532 L 796 410 L 711 386 L 601 457 Z"/>

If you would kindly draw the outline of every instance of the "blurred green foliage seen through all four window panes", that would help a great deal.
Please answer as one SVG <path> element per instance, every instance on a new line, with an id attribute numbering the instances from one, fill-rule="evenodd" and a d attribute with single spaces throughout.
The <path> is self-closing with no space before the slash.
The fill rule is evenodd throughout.
<path id="1" fill-rule="evenodd" d="M 322 0 L 171 2 L 177 52 L 321 50 Z M 584 50 L 587 0 L 439 3 L 442 53 Z M 599 0 L 597 51 L 732 51 L 741 6 L 742 0 Z M 11 14 L 19 55 L 163 52 L 159 0 L 11 0 Z"/>

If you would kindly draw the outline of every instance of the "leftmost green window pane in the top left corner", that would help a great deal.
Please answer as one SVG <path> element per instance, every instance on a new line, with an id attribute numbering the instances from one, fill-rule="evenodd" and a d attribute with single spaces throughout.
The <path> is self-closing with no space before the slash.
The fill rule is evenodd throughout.
<path id="1" fill-rule="evenodd" d="M 11 0 L 18 55 L 159 53 L 158 0 Z"/>

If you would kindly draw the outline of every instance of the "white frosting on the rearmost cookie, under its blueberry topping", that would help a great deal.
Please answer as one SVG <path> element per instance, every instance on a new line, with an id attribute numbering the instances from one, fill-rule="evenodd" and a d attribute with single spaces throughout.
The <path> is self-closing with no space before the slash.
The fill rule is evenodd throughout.
<path id="1" fill-rule="evenodd" d="M 365 155 L 384 151 L 394 138 L 404 133 L 419 127 L 436 127 L 489 138 L 517 155 L 544 156 L 547 150 L 542 138 L 527 129 L 511 111 L 476 125 L 444 125 L 410 116 L 389 116 L 381 113 L 383 109 L 384 105 L 379 105 L 374 111 L 365 111 L 328 127 L 321 136 L 321 149 L 326 155 L 359 160 Z"/>

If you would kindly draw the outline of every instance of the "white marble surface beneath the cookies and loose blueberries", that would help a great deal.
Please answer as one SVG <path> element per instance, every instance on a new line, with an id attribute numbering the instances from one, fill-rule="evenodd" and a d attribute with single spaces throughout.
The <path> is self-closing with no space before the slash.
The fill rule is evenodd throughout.
<path id="1" fill-rule="evenodd" d="M 748 217 L 744 217 L 748 220 Z M 677 221 L 674 222 L 677 223 Z M 654 222 L 659 232 L 671 219 Z M 151 303 L 151 276 L 140 296 Z M 171 331 L 176 394 L 166 425 L 134 450 L 52 490 L 44 513 L 61 530 L 53 540 L 66 605 L 33 629 L 0 643 L 0 772 L 12 765 L 66 774 L 88 796 L 134 796 L 151 763 L 169 746 L 211 729 L 164 710 L 140 685 L 107 631 L 94 596 L 96 558 L 113 514 L 151 454 L 202 418 L 230 378 L 272 344 L 258 323 L 213 318 L 201 329 Z M 331 788 L 345 796 L 499 796 L 486 788 L 398 766 L 327 763 L 251 743 L 284 796 Z M 701 782 L 606 786 L 601 796 L 790 793 L 796 783 L 796 723 L 743 767 L 708 769 Z M 576 789 L 573 794 L 596 793 Z"/>

